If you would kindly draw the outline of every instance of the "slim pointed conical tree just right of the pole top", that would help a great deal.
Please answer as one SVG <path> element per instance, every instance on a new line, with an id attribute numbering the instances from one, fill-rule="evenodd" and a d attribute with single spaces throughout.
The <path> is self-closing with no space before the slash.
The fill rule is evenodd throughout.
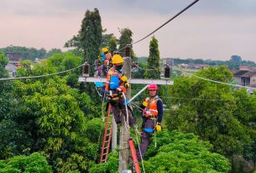
<path id="1" fill-rule="evenodd" d="M 148 79 L 160 79 L 160 67 L 159 67 L 159 44 L 158 40 L 152 37 L 149 43 L 149 58 L 147 64 L 147 70 L 145 76 Z M 153 70 L 152 70 L 153 69 Z"/>

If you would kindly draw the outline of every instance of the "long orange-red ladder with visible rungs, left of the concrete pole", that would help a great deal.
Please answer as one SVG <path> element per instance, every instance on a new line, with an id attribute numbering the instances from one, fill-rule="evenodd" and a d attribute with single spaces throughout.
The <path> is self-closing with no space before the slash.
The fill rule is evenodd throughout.
<path id="1" fill-rule="evenodd" d="M 111 104 L 108 104 L 107 109 L 107 119 L 105 122 L 105 130 L 102 139 L 102 152 L 101 152 L 101 160 L 100 163 L 107 162 L 107 155 L 110 148 L 111 135 L 112 135 L 112 114 L 111 112 Z"/>

